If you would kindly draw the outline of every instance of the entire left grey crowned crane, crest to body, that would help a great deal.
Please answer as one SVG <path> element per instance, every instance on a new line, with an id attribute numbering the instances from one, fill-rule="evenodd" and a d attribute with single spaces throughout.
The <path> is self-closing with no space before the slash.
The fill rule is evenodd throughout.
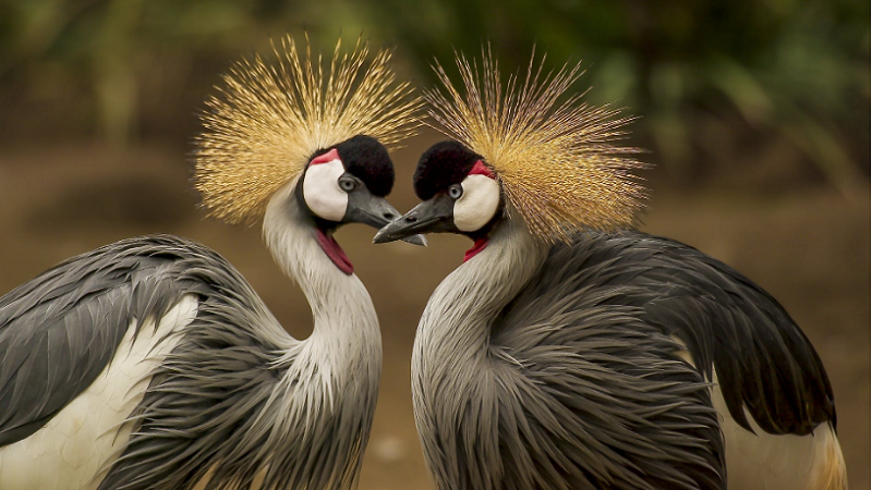
<path id="1" fill-rule="evenodd" d="M 312 335 L 291 338 L 230 264 L 184 238 L 71 258 L 0 298 L 0 488 L 356 486 L 382 344 L 332 233 L 399 216 L 379 142 L 407 136 L 419 102 L 386 51 L 337 45 L 326 71 L 291 38 L 275 49 L 210 99 L 195 183 L 215 216 L 264 215 Z"/>

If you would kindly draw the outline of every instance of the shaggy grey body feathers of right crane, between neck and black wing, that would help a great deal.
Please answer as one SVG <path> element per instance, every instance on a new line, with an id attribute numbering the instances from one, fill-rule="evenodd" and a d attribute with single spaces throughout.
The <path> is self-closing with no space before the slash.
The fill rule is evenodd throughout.
<path id="1" fill-rule="evenodd" d="M 726 488 L 707 384 L 639 306 L 617 305 L 631 289 L 603 285 L 614 260 L 589 259 L 553 253 L 494 323 L 494 354 L 523 367 L 500 364 L 523 382 L 499 384 L 530 384 L 499 396 L 505 488 Z"/>

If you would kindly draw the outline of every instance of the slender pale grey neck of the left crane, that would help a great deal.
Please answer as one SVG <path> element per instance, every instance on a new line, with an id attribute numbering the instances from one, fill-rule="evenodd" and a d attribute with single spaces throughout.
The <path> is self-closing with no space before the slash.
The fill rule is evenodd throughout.
<path id="1" fill-rule="evenodd" d="M 264 446 L 279 449 L 271 464 L 286 474 L 275 481 L 354 488 L 375 414 L 382 335 L 363 283 L 318 245 L 316 228 L 294 197 L 296 182 L 270 199 L 263 233 L 279 267 L 303 290 L 314 330 L 299 341 L 271 322 L 274 339 L 282 339 L 270 366 L 280 380 L 261 411 L 271 427 Z"/>

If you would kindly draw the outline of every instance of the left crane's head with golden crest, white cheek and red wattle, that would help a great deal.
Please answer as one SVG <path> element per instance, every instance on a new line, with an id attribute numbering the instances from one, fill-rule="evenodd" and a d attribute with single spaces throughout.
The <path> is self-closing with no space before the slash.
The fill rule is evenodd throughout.
<path id="1" fill-rule="evenodd" d="M 295 199 L 320 247 L 350 274 L 332 232 L 349 222 L 379 228 L 399 215 L 385 200 L 393 166 L 382 145 L 415 133 L 421 102 L 396 79 L 390 50 L 370 57 L 362 38 L 350 49 L 340 39 L 323 58 L 307 37 L 287 36 L 271 54 L 235 63 L 208 99 L 194 185 L 209 215 L 230 223 L 263 216 L 266 228 L 274 203 Z"/>

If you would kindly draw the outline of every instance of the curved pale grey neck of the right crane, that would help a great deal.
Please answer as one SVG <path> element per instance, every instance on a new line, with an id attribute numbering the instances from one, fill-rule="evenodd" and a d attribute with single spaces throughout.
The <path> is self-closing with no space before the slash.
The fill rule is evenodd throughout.
<path id="1" fill-rule="evenodd" d="M 415 425 L 437 488 L 496 488 L 499 450 L 491 328 L 536 273 L 548 247 L 519 217 L 502 222 L 479 255 L 449 274 L 431 296 L 412 354 Z M 458 429 L 458 417 L 465 430 Z M 476 434 L 476 436 L 471 436 Z M 465 454 L 463 456 L 462 454 Z M 464 469 L 477 475 L 469 486 Z"/>

